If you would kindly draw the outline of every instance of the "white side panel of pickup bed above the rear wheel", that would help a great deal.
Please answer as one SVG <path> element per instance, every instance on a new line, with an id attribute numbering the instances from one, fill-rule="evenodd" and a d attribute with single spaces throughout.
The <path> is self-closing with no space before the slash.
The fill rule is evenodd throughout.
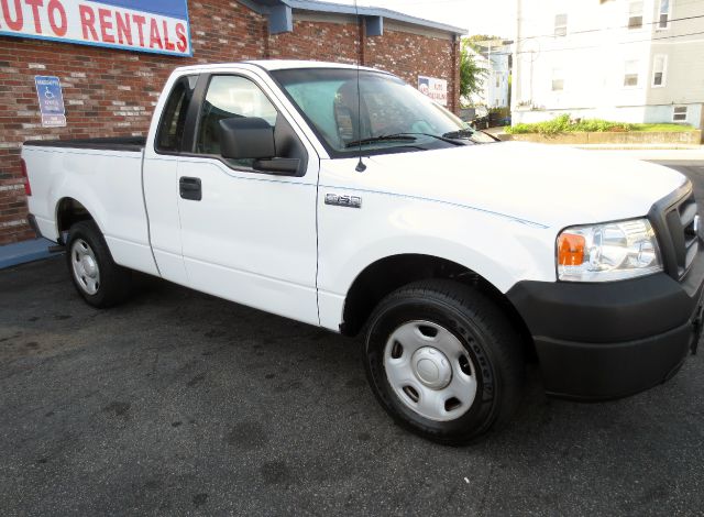
<path id="1" fill-rule="evenodd" d="M 142 153 L 29 145 L 23 150 L 32 196 L 30 211 L 47 239 L 58 239 L 62 199 L 80 202 L 103 233 L 114 261 L 157 274 L 142 196 Z"/>

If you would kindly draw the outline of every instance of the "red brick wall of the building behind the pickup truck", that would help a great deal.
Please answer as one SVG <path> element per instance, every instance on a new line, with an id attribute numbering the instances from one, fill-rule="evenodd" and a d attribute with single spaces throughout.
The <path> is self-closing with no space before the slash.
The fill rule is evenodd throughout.
<path id="1" fill-rule="evenodd" d="M 450 108 L 459 106 L 458 51 L 449 40 L 400 31 L 364 38 L 354 23 L 319 21 L 296 21 L 293 33 L 268 35 L 267 20 L 235 1 L 189 1 L 188 9 L 193 58 L 0 36 L 0 245 L 33 237 L 21 183 L 21 143 L 142 134 L 176 66 L 270 57 L 342 63 L 360 58 L 411 85 L 418 75 L 448 78 Z M 41 127 L 35 75 L 59 77 L 66 128 Z"/>

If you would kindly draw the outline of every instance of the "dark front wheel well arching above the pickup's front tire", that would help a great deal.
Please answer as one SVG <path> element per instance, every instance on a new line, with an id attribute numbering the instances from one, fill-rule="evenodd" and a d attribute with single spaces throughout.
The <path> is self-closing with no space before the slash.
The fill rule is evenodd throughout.
<path id="1" fill-rule="evenodd" d="M 356 336 L 386 295 L 413 282 L 429 278 L 453 279 L 487 295 L 514 322 L 526 344 L 528 356 L 536 356 L 532 338 L 526 323 L 502 292 L 468 267 L 430 255 L 394 255 L 367 266 L 348 292 L 340 331 L 344 336 Z"/>

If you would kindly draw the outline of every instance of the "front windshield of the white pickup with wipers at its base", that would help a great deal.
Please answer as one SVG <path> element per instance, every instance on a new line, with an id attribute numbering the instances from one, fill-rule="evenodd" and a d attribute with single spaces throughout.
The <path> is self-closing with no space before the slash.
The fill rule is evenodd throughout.
<path id="1" fill-rule="evenodd" d="M 388 74 L 340 68 L 272 72 L 332 157 L 452 147 L 474 132 Z M 361 103 L 358 99 L 361 98 Z M 449 138 L 448 138 L 449 136 Z"/>

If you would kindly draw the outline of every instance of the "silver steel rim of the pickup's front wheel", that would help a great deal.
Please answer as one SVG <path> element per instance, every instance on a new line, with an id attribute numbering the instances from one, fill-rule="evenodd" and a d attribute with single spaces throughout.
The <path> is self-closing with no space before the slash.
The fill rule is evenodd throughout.
<path id="1" fill-rule="evenodd" d="M 454 420 L 474 404 L 472 356 L 440 324 L 417 320 L 398 327 L 386 342 L 384 370 L 400 402 L 424 418 Z"/>

